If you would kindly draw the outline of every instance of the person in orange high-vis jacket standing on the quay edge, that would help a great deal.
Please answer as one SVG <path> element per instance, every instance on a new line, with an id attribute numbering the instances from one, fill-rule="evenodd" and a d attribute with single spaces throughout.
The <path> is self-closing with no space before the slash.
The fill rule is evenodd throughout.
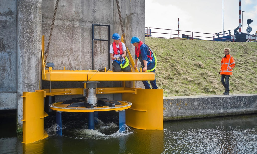
<path id="1" fill-rule="evenodd" d="M 224 49 L 225 56 L 222 57 L 222 60 L 221 60 L 221 71 L 219 72 L 219 74 L 221 74 L 221 83 L 226 89 L 225 92 L 223 93 L 224 95 L 229 95 L 230 90 L 229 90 L 228 79 L 230 75 L 232 75 L 232 69 L 235 67 L 234 58 L 229 54 L 229 52 L 230 52 L 230 49 L 226 47 Z M 224 79 L 225 79 L 225 82 L 224 82 Z"/>

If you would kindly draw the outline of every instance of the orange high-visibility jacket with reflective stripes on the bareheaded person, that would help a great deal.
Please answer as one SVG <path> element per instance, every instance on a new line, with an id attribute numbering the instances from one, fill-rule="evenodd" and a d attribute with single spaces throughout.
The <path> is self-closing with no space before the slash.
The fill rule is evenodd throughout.
<path id="1" fill-rule="evenodd" d="M 225 55 L 221 60 L 221 74 L 232 75 L 235 65 L 234 58 L 230 54 Z"/>

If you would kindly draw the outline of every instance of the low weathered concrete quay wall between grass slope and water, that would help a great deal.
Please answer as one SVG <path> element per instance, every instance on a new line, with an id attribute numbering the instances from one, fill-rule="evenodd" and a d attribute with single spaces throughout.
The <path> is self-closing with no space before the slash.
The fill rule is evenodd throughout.
<path id="1" fill-rule="evenodd" d="M 163 119 L 191 119 L 257 113 L 257 94 L 163 98 Z"/>

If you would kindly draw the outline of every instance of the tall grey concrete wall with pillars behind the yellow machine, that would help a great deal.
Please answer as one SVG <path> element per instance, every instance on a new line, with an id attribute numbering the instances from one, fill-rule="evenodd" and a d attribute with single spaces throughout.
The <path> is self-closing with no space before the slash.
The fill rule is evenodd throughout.
<path id="1" fill-rule="evenodd" d="M 55 0 L 0 0 L 0 110 L 17 109 L 22 122 L 22 92 L 49 88 L 41 80 L 41 36 L 48 44 Z M 119 0 L 127 45 L 132 36 L 144 41 L 144 0 Z M 110 25 L 113 33 L 121 34 L 116 0 L 61 0 L 58 4 L 47 62 L 53 69 L 92 69 L 92 24 Z M 95 26 L 95 39 L 107 39 L 107 27 Z M 110 44 L 113 40 L 110 41 Z M 133 52 L 132 52 L 133 53 Z M 108 63 L 107 41 L 94 41 L 94 68 L 112 68 Z M 133 85 L 128 82 L 128 85 Z M 141 82 L 135 84 L 142 88 Z M 121 86 L 121 82 L 101 82 L 98 87 Z M 81 88 L 81 82 L 52 82 L 51 88 Z M 70 96 L 72 97 L 72 96 Z M 74 97 L 74 96 L 73 96 Z M 75 96 L 76 97 L 76 96 Z M 101 97 L 117 99 L 121 94 Z M 69 99 L 56 97 L 56 100 Z"/>

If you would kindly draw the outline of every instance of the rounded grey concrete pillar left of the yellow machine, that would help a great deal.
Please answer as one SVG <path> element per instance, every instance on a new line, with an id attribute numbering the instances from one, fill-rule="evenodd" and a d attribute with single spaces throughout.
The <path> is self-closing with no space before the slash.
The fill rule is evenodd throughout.
<path id="1" fill-rule="evenodd" d="M 17 9 L 17 122 L 21 127 L 22 93 L 41 89 L 41 0 L 18 0 Z"/>

